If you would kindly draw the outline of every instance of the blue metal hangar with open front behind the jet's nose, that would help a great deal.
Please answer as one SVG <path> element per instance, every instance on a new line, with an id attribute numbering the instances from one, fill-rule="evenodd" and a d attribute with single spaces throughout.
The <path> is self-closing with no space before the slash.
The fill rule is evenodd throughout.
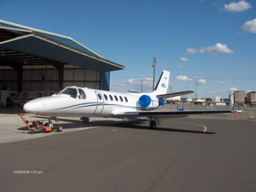
<path id="1" fill-rule="evenodd" d="M 110 90 L 111 71 L 124 68 L 70 37 L 0 20 L 0 107 L 8 96 L 13 106 L 14 93 L 30 100 L 66 86 Z"/>

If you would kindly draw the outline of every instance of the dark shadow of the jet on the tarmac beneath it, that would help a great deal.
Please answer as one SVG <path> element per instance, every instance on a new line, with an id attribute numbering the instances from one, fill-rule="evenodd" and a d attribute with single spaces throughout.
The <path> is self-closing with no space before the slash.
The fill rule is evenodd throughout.
<path id="1" fill-rule="evenodd" d="M 41 116 L 33 116 L 42 119 L 49 119 L 47 117 Z M 64 129 L 72 129 L 72 128 L 85 128 L 85 127 L 100 127 L 100 126 L 110 126 L 110 127 L 122 127 L 122 128 L 133 128 L 133 129 L 149 129 L 149 123 L 147 119 L 137 119 L 134 121 L 122 121 L 115 122 L 113 120 L 98 120 L 89 122 L 88 124 L 84 124 L 82 120 L 72 120 L 72 119 L 61 119 L 58 118 L 59 121 L 69 122 L 69 123 L 59 123 L 55 122 L 55 124 L 61 124 Z M 161 122 L 161 121 L 160 121 Z M 146 124 L 145 124 L 146 123 Z M 18 128 L 18 130 L 28 130 L 27 127 Z M 216 132 L 203 132 L 197 130 L 186 130 L 186 129 L 175 129 L 175 128 L 164 128 L 159 127 L 155 130 L 158 131 L 170 131 L 170 132 L 185 132 L 185 133 L 198 133 L 198 134 L 216 134 Z"/>

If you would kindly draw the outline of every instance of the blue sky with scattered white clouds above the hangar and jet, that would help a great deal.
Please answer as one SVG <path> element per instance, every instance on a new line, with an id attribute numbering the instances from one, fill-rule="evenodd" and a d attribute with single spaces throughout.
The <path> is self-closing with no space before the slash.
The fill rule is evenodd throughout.
<path id="1" fill-rule="evenodd" d="M 196 80 L 201 97 L 256 90 L 254 0 L 1 0 L 0 19 L 71 36 L 124 65 L 113 91 L 139 91 L 140 79 L 150 91 L 153 56 L 156 79 L 169 70 L 173 92 L 195 90 Z"/>

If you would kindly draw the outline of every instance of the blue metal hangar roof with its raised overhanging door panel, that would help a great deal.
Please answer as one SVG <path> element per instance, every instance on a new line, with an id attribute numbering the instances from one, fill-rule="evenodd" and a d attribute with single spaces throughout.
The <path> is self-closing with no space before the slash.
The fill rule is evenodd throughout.
<path id="1" fill-rule="evenodd" d="M 67 36 L 3 20 L 0 20 L 0 30 L 10 32 L 13 36 L 12 38 L 0 39 L 0 47 L 9 50 L 100 72 L 124 69 L 124 66 L 104 59 L 86 46 Z"/>

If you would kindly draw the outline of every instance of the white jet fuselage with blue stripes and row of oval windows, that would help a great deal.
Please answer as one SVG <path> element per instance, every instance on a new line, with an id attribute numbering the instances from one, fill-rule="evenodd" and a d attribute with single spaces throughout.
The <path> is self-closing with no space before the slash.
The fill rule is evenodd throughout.
<path id="1" fill-rule="evenodd" d="M 141 107 L 139 98 L 144 94 L 67 87 L 52 96 L 27 102 L 24 110 L 42 116 L 110 117 L 115 113 L 154 110 L 160 107 L 157 97 L 152 93 L 147 93 L 151 103 L 145 108 Z"/>

